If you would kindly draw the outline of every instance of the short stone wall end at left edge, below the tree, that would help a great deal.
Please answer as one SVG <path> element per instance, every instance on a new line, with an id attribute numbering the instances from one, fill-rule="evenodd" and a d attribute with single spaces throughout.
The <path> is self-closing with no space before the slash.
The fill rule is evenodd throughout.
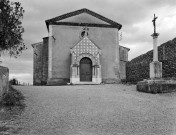
<path id="1" fill-rule="evenodd" d="M 9 88 L 9 69 L 0 66 L 0 99 L 2 94 L 8 91 Z"/>

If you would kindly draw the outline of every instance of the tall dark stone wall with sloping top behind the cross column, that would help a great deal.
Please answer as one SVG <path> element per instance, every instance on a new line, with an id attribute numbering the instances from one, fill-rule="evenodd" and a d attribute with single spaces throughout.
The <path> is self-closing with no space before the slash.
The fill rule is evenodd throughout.
<path id="1" fill-rule="evenodd" d="M 176 77 L 176 38 L 158 47 L 158 58 L 162 62 L 163 78 Z M 127 62 L 127 82 L 137 83 L 149 78 L 149 64 L 153 51 L 149 51 Z"/>

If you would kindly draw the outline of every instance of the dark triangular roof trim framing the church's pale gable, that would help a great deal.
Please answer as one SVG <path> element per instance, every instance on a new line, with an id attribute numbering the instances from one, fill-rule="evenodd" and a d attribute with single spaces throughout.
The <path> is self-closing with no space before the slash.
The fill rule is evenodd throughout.
<path id="1" fill-rule="evenodd" d="M 81 13 L 87 13 L 89 15 L 92 15 L 102 21 L 105 21 L 107 23 L 109 23 L 110 25 L 107 25 L 107 24 L 93 24 L 93 23 L 70 23 L 70 22 L 58 22 L 60 20 L 63 20 L 63 19 L 66 19 L 66 18 L 69 18 L 69 17 L 72 17 L 72 16 L 75 16 L 75 15 L 78 15 L 78 14 L 81 14 Z M 73 12 L 70 12 L 70 13 L 67 13 L 67 14 L 63 14 L 61 16 L 58 16 L 58 17 L 55 17 L 55 18 L 52 18 L 52 19 L 49 19 L 49 20 L 46 20 L 46 25 L 47 25 L 47 28 L 49 27 L 49 24 L 54 24 L 54 25 L 73 25 L 73 26 L 90 26 L 90 27 L 110 27 L 110 28 L 118 28 L 119 30 L 121 29 L 122 25 L 117 23 L 117 22 L 114 22 L 102 15 L 99 15 L 93 11 L 90 11 L 86 8 L 83 8 L 83 9 L 80 9 L 80 10 L 76 10 L 76 11 L 73 11 Z"/>

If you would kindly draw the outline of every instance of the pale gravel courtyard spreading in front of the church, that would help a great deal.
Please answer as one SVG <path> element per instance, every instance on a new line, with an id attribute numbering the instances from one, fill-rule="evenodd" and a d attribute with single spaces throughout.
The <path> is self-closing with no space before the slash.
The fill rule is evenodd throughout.
<path id="1" fill-rule="evenodd" d="M 176 135 L 176 93 L 122 84 L 15 88 L 26 107 L 0 110 L 0 135 Z"/>

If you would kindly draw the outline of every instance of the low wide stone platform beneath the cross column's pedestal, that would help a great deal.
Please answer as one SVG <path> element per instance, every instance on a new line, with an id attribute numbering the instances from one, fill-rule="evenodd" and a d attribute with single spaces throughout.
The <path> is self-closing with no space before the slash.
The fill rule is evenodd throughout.
<path id="1" fill-rule="evenodd" d="M 147 93 L 167 93 L 176 91 L 176 80 L 174 79 L 151 79 L 140 81 L 136 85 L 137 91 Z"/>

